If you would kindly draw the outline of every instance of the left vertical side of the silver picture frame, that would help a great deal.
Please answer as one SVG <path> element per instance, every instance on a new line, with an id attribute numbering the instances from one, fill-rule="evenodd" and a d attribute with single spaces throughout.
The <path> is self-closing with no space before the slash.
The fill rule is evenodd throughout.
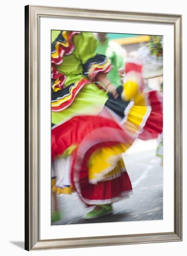
<path id="1" fill-rule="evenodd" d="M 29 6 L 29 248 L 39 241 L 39 26 L 38 13 Z"/>

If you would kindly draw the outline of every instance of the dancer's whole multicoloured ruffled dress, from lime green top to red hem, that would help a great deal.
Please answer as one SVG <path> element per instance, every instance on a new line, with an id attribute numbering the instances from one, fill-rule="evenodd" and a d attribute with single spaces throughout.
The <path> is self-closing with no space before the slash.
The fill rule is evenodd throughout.
<path id="1" fill-rule="evenodd" d="M 52 31 L 52 191 L 75 190 L 86 205 L 126 196 L 132 186 L 122 153 L 140 133 L 148 139 L 162 130 L 162 116 L 139 94 L 124 101 L 125 85 L 114 99 L 97 83 L 112 66 L 96 47 L 92 33 Z"/>

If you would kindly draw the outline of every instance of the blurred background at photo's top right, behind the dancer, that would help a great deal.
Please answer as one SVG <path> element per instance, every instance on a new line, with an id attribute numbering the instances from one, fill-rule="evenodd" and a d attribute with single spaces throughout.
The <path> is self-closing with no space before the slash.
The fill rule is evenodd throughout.
<path id="1" fill-rule="evenodd" d="M 94 33 L 98 40 L 97 53 L 105 54 L 110 58 L 113 70 L 124 67 L 129 58 L 140 59 L 143 62 L 143 77 L 145 87 L 153 90 L 162 90 L 163 81 L 163 38 L 162 36 Z"/>

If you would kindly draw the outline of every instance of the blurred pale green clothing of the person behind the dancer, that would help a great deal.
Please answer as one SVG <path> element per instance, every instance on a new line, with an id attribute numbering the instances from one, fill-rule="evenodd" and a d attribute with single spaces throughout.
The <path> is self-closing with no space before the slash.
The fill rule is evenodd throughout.
<path id="1" fill-rule="evenodd" d="M 120 53 L 120 46 L 116 44 L 116 42 L 106 40 L 104 43 L 98 44 L 96 52 L 97 54 L 106 55 L 110 59 L 113 68 L 110 73 L 107 74 L 107 77 L 113 85 L 118 87 L 122 82 L 120 81 L 117 69 L 124 67 L 123 56 Z"/>

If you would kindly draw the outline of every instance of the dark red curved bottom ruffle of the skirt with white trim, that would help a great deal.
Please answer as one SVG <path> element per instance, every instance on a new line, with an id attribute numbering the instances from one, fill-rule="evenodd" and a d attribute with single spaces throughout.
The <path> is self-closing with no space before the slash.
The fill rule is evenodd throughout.
<path id="1" fill-rule="evenodd" d="M 97 184 L 90 184 L 88 178 L 88 162 L 90 156 L 98 148 L 111 147 L 117 145 L 119 142 L 127 144 L 131 144 L 133 142 L 132 138 L 127 135 L 125 131 L 122 132 L 123 138 L 119 136 L 119 140 L 117 141 L 102 141 L 97 143 L 90 147 L 84 156 L 81 156 L 78 153 L 78 148 L 74 152 L 74 160 L 71 168 L 71 183 L 84 203 L 95 204 L 96 202 L 88 203 L 87 200 L 107 200 L 113 199 L 115 197 L 123 197 L 125 192 L 132 190 L 131 182 L 127 172 L 122 172 L 120 177 L 116 177 L 113 180 L 98 182 Z M 111 133 L 103 134 L 102 139 L 107 137 L 111 139 L 111 136 Z M 94 135 L 92 136 L 92 139 L 94 139 Z"/>

